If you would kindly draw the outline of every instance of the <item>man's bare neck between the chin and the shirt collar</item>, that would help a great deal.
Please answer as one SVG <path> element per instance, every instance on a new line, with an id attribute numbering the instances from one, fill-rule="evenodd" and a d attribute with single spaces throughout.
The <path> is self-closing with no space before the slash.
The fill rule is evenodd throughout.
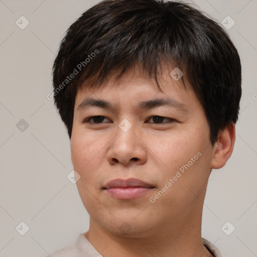
<path id="1" fill-rule="evenodd" d="M 125 235 L 110 233 L 90 218 L 89 230 L 84 236 L 104 257 L 211 257 L 202 244 L 201 218 L 201 213 L 191 212 L 190 217 L 180 216 L 151 230 Z"/>

